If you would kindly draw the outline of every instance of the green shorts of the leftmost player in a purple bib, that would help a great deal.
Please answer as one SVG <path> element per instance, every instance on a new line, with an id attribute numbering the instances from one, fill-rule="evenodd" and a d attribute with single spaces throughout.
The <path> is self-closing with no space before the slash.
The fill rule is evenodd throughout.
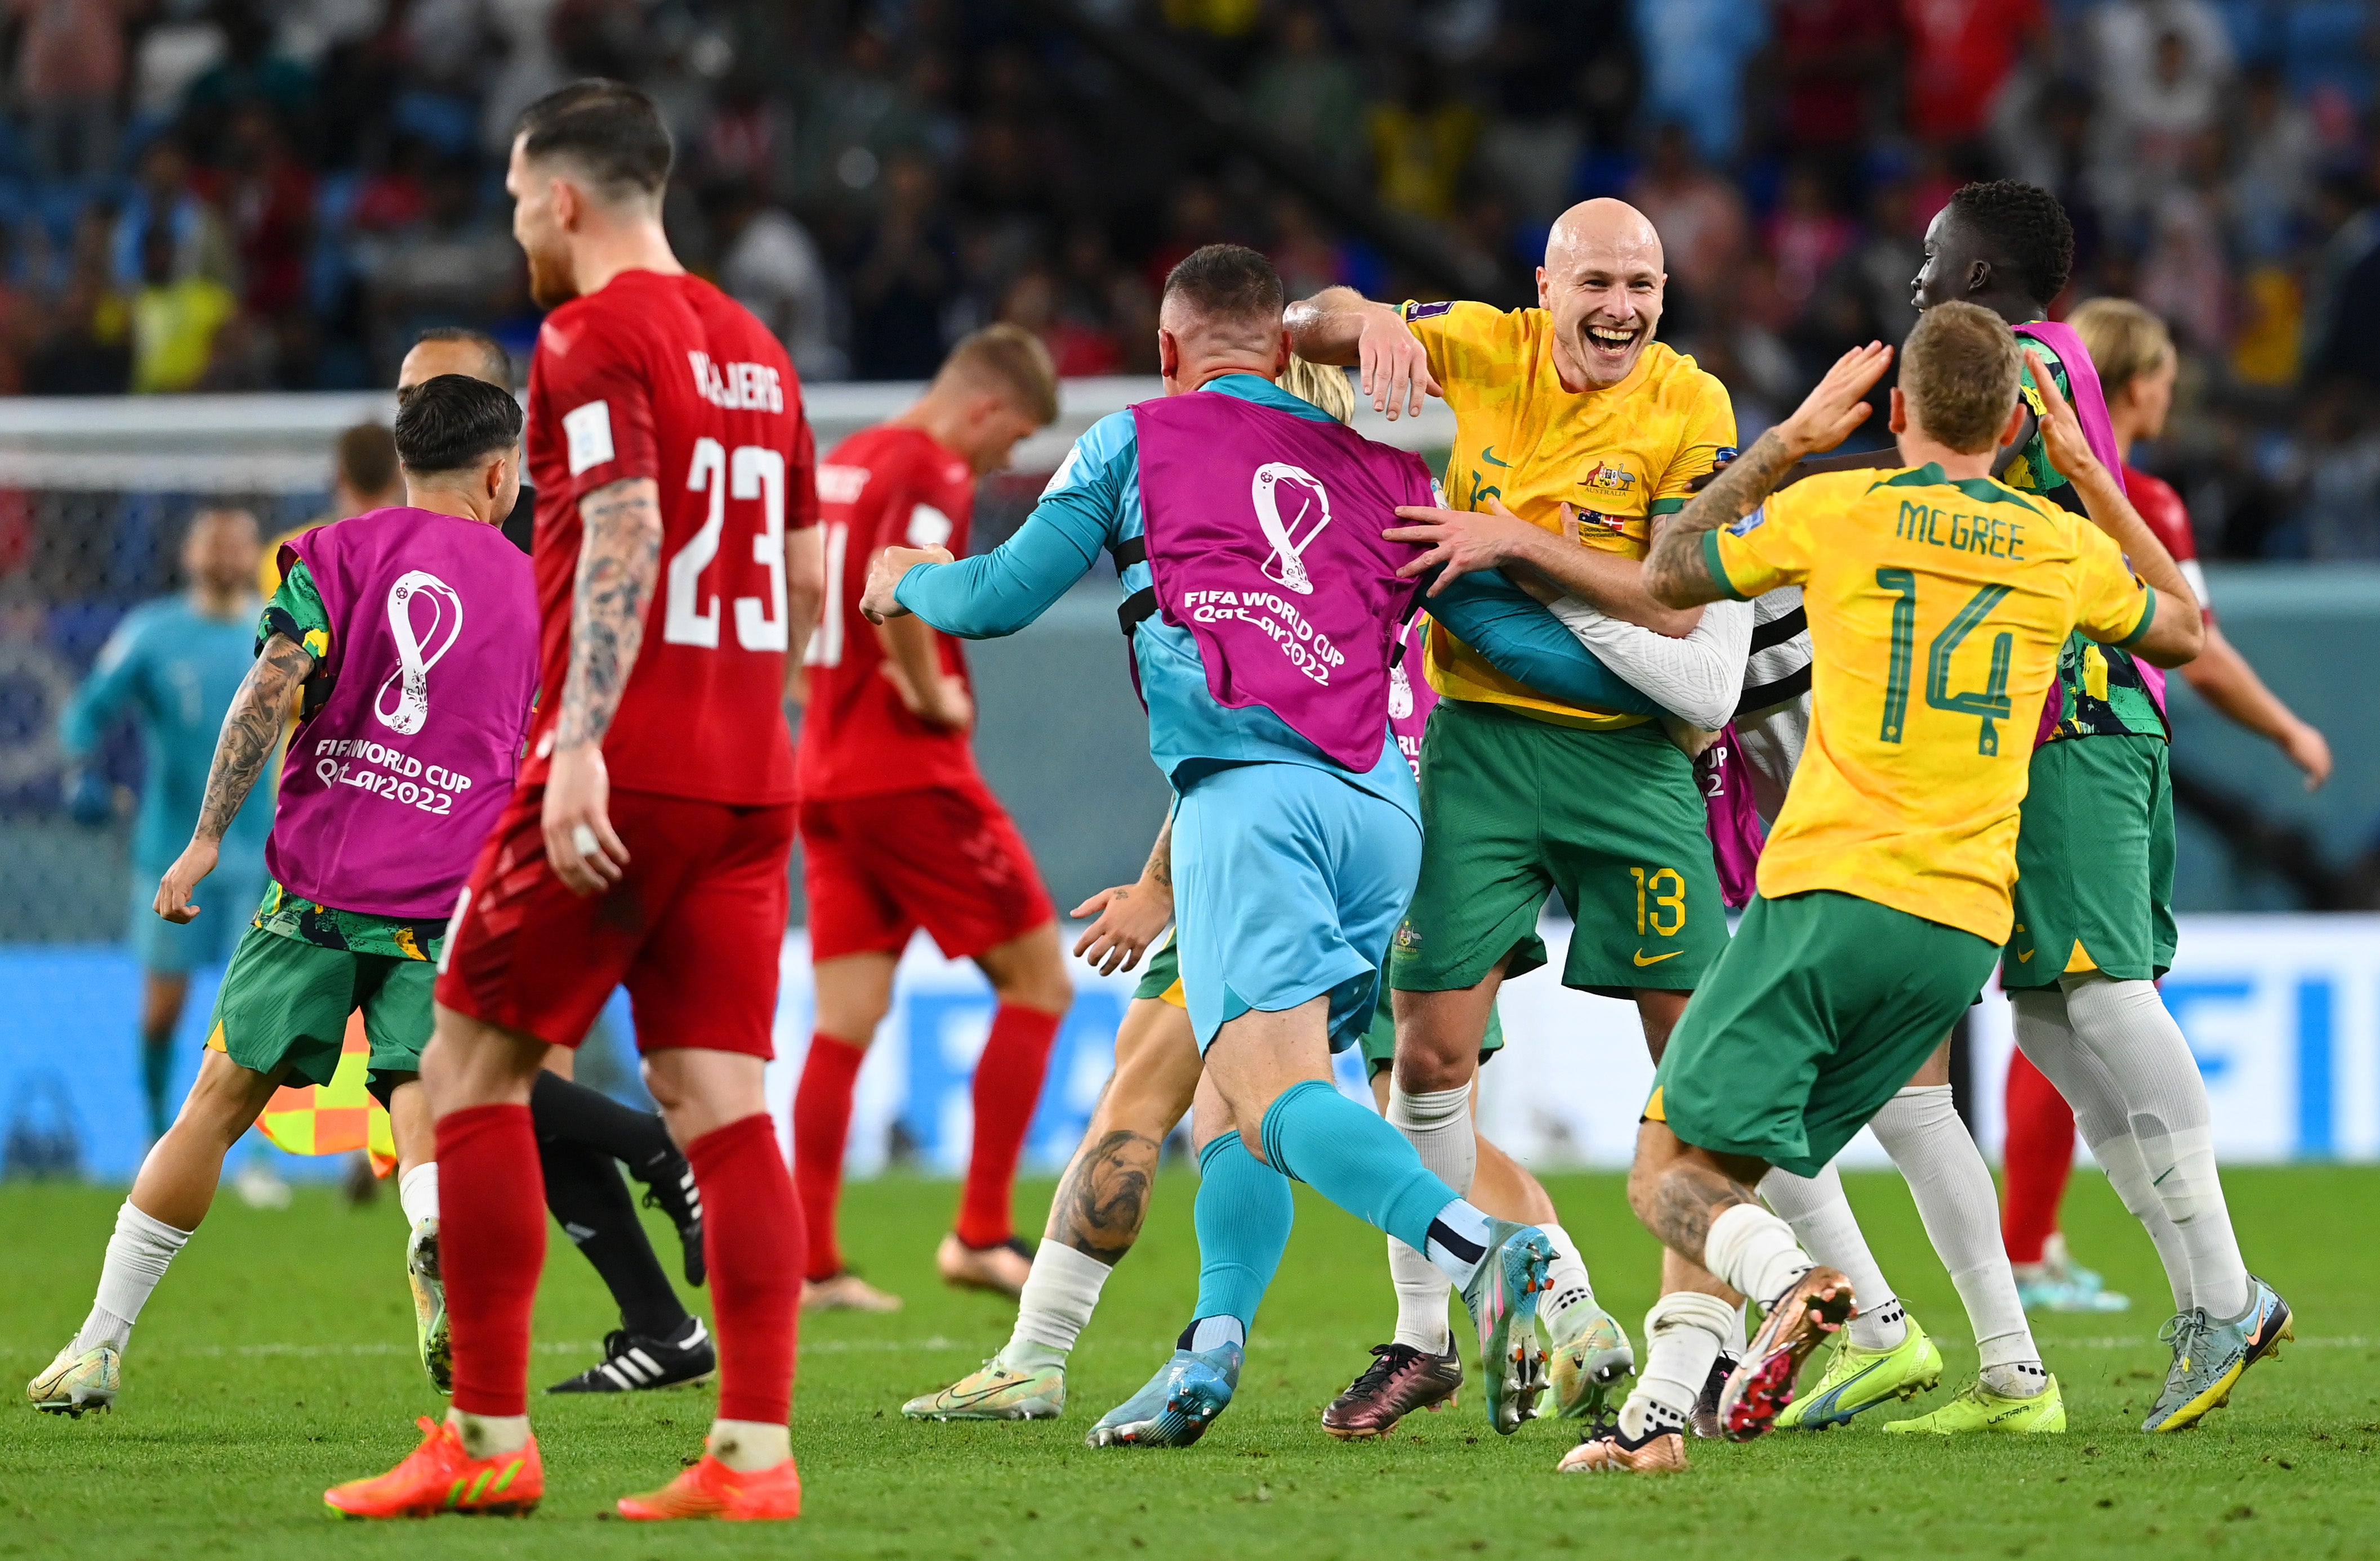
<path id="1" fill-rule="evenodd" d="M 207 1049 L 257 1073 L 288 1064 L 288 1085 L 326 1085 L 338 1071 L 347 1016 L 362 1009 L 371 1042 L 367 1087 L 386 1107 L 393 1076 L 421 1071 L 436 983 L 431 959 L 326 949 L 250 928 L 214 992 Z"/>

